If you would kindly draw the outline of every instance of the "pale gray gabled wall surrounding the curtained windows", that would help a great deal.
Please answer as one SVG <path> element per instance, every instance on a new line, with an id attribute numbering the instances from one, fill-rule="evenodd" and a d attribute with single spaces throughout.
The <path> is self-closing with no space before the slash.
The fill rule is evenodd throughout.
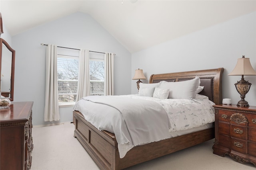
<path id="1" fill-rule="evenodd" d="M 72 121 L 72 107 L 61 107 L 60 121 L 44 122 L 46 46 L 40 43 L 115 53 L 114 94 L 131 93 L 131 53 L 88 14 L 77 12 L 12 37 L 14 102 L 34 101 L 33 125 Z"/>

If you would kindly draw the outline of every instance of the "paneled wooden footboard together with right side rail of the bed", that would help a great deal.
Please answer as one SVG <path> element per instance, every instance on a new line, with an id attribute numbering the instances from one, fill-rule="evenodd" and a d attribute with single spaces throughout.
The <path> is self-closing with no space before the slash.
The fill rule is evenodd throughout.
<path id="1" fill-rule="evenodd" d="M 73 111 L 74 137 L 80 141 L 102 170 L 124 169 L 214 138 L 214 128 L 134 147 L 124 158 L 119 157 L 114 134 L 99 131 L 78 111 Z"/>

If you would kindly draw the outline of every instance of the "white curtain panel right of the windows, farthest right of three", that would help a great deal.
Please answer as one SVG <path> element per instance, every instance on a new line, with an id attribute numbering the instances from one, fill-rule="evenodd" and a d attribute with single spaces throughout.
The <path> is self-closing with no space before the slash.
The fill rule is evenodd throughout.
<path id="1" fill-rule="evenodd" d="M 114 95 L 114 53 L 105 53 L 104 95 Z"/>

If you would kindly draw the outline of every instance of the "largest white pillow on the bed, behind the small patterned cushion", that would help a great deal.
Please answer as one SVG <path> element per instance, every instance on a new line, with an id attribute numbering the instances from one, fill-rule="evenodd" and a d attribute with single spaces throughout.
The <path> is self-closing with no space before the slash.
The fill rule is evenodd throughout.
<path id="1" fill-rule="evenodd" d="M 196 77 L 192 80 L 181 82 L 165 82 L 160 83 L 159 88 L 169 89 L 168 99 L 193 99 L 196 97 L 196 89 L 200 84 L 200 78 Z"/>

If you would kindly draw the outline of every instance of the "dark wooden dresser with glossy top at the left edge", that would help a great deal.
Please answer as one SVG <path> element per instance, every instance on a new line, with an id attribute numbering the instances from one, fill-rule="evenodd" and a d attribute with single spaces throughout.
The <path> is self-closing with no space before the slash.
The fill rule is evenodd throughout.
<path id="1" fill-rule="evenodd" d="M 33 102 L 12 102 L 0 109 L 0 169 L 27 170 L 31 167 Z"/>

